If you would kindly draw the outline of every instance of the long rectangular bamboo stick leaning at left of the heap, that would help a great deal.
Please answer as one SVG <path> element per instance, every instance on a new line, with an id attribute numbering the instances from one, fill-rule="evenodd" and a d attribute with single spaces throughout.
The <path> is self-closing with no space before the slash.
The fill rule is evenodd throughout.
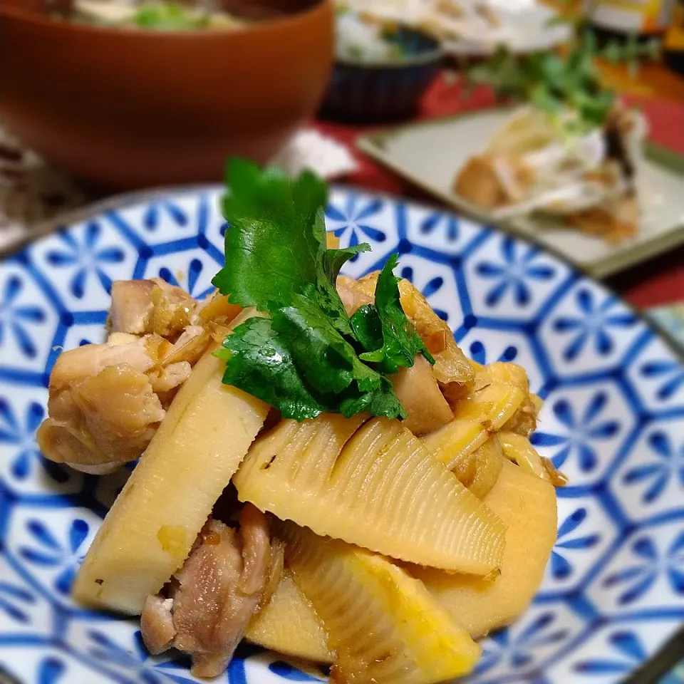
<path id="1" fill-rule="evenodd" d="M 88 550 L 73 588 L 80 603 L 139 614 L 185 561 L 269 410 L 224 385 L 224 365 L 210 349 L 176 395 Z"/>

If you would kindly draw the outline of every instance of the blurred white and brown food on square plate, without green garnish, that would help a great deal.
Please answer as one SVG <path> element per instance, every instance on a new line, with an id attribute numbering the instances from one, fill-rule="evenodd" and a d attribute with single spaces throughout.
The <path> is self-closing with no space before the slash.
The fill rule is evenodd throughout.
<path id="1" fill-rule="evenodd" d="M 569 133 L 571 118 L 517 108 L 459 170 L 454 191 L 497 218 L 542 212 L 608 242 L 634 237 L 643 117 L 615 108 L 603 125 Z"/>

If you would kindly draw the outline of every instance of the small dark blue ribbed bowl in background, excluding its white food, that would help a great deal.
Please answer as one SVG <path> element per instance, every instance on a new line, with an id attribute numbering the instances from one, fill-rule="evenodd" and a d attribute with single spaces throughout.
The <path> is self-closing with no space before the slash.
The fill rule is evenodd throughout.
<path id="1" fill-rule="evenodd" d="M 333 68 L 321 115 L 371 123 L 410 118 L 442 66 L 440 42 L 408 26 L 385 30 L 400 57 L 340 54 Z"/>

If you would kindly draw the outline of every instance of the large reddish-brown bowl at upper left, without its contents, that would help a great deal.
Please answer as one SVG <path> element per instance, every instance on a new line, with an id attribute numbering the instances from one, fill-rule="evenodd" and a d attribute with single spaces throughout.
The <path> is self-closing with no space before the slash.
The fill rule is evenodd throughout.
<path id="1" fill-rule="evenodd" d="M 234 33 L 155 33 L 0 0 L 0 117 L 109 189 L 219 180 L 229 155 L 265 162 L 316 111 L 333 63 L 331 0 L 266 4 L 289 14 Z"/>

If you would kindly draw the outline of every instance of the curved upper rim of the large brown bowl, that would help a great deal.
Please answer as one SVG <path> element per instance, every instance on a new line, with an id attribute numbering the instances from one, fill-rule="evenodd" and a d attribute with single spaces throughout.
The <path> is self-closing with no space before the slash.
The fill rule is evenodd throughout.
<path id="1" fill-rule="evenodd" d="M 211 31 L 154 31 L 149 28 L 115 28 L 113 26 L 96 26 L 92 24 L 79 24 L 78 22 L 66 21 L 63 19 L 52 19 L 50 16 L 40 14 L 38 12 L 20 9 L 18 7 L 3 6 L 0 0 L 0 19 L 8 17 L 11 19 L 18 19 L 29 24 L 46 27 L 46 30 L 63 31 L 64 33 L 94 33 L 95 35 L 112 35 L 125 36 L 126 38 L 140 38 L 157 41 L 169 41 L 175 38 L 187 40 L 195 38 L 197 40 L 204 40 L 207 38 L 225 38 L 227 36 L 254 36 L 255 34 L 273 33 L 281 31 L 290 25 L 299 24 L 301 21 L 314 19 L 318 14 L 333 11 L 332 0 L 315 0 L 315 3 L 302 11 L 295 14 L 286 14 L 277 19 L 269 19 L 267 21 L 259 21 L 241 28 L 239 31 L 229 30 L 227 28 L 215 28 Z"/>

